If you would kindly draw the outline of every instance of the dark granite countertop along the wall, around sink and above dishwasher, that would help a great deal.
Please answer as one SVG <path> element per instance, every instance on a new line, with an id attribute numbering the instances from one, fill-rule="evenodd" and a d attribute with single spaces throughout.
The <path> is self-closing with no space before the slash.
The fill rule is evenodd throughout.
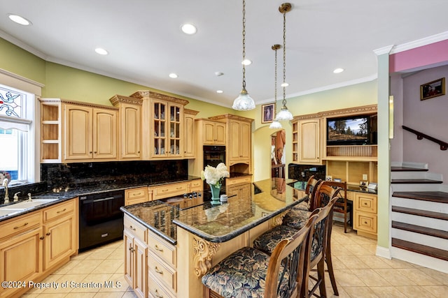
<path id="1" fill-rule="evenodd" d="M 191 181 L 191 180 L 195 180 L 195 179 L 201 179 L 201 178 L 195 177 L 195 176 L 188 176 L 188 177 L 182 177 L 179 179 L 173 179 L 170 181 L 151 181 L 149 183 L 136 182 L 134 184 L 119 183 L 117 181 L 114 181 L 114 182 L 104 181 L 104 182 L 99 182 L 98 184 L 93 185 L 93 186 L 92 185 L 90 185 L 90 186 L 78 185 L 78 186 L 76 186 L 76 188 L 54 189 L 52 191 L 33 194 L 32 198 L 36 199 L 36 200 L 51 198 L 51 199 L 56 199 L 55 201 L 41 204 L 41 205 L 38 205 L 37 207 L 25 209 L 20 212 L 7 214 L 5 216 L 0 216 L 0 222 L 6 221 L 7 219 L 10 219 L 10 218 L 21 216 L 23 214 L 28 214 L 30 212 L 51 206 L 53 204 L 58 204 L 59 202 L 71 200 L 80 195 L 90 195 L 92 193 L 105 193 L 108 191 L 120 191 L 120 190 L 125 190 L 125 189 L 130 189 L 130 188 L 139 188 L 139 187 L 145 187 L 145 186 L 157 186 L 157 185 L 163 185 L 163 184 L 172 184 L 172 183 L 177 183 L 177 182 L 182 182 L 182 181 Z M 24 200 L 20 200 L 19 202 L 22 202 L 22 201 L 24 201 Z M 10 202 L 9 204 L 1 204 L 0 207 L 8 206 L 8 207 L 13 208 L 14 204 L 15 204 L 15 202 Z"/>

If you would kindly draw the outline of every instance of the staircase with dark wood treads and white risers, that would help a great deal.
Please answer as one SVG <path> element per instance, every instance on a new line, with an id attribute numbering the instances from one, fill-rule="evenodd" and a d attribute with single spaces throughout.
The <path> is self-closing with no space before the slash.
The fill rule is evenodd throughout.
<path id="1" fill-rule="evenodd" d="M 391 167 L 391 256 L 448 273 L 448 191 L 426 165 Z"/>

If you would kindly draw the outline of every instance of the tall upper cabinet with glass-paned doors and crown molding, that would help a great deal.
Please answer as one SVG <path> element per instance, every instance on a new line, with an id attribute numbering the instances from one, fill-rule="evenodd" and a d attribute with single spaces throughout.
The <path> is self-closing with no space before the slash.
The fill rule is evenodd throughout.
<path id="1" fill-rule="evenodd" d="M 184 106 L 188 100 L 141 90 L 132 94 L 143 100 L 143 158 L 179 159 L 184 157 Z"/>

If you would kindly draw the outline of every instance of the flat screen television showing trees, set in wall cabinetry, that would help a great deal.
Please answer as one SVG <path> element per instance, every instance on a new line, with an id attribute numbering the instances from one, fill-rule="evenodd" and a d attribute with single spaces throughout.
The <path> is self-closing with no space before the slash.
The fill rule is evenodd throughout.
<path id="1" fill-rule="evenodd" d="M 377 115 L 327 119 L 327 145 L 377 144 Z"/>

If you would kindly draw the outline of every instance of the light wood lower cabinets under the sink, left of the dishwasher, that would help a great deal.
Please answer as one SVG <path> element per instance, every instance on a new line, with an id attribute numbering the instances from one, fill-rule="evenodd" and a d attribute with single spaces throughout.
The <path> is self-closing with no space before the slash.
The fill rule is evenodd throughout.
<path id="1" fill-rule="evenodd" d="M 0 223 L 0 279 L 15 283 L 1 287 L 0 297 L 27 292 L 29 281 L 41 281 L 76 253 L 77 200 Z"/>

